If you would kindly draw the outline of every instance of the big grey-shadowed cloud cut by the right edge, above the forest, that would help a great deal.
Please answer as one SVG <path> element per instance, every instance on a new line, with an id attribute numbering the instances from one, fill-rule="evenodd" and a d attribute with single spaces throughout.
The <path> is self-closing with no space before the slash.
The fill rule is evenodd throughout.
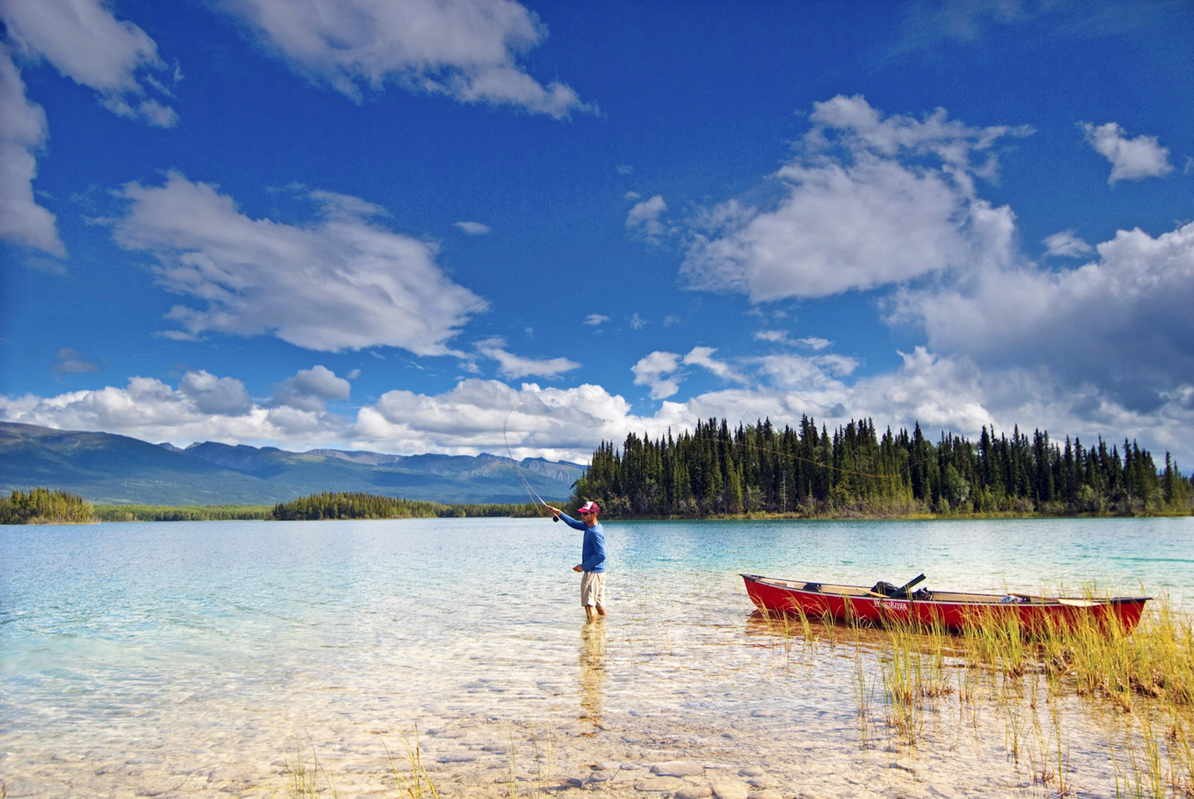
<path id="1" fill-rule="evenodd" d="M 1149 412 L 1194 386 L 1194 223 L 1156 238 L 1120 231 L 1096 252 L 1075 270 L 1026 264 L 906 290 L 893 318 L 922 324 L 937 352 L 1047 369 L 1059 386 Z"/>

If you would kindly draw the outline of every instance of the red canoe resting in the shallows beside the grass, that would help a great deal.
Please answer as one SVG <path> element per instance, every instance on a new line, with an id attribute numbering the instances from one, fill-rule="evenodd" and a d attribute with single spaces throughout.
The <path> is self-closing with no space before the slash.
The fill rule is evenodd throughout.
<path id="1" fill-rule="evenodd" d="M 830 616 L 838 621 L 857 619 L 868 623 L 917 621 L 961 629 L 967 623 L 1018 619 L 1026 629 L 1071 626 L 1091 617 L 1100 626 L 1116 619 L 1126 632 L 1140 622 L 1144 603 L 1151 597 L 1108 598 L 1032 596 L 1028 594 L 958 594 L 915 591 L 905 586 L 878 592 L 858 585 L 829 585 L 800 580 L 741 574 L 746 594 L 761 610 L 802 614 L 812 619 Z M 923 574 L 922 574 L 923 578 Z M 873 588 L 886 588 L 879 584 Z"/>

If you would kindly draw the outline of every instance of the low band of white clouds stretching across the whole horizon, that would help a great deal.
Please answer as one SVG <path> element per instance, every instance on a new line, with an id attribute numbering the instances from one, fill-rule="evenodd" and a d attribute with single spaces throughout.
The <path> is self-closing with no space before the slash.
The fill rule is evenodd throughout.
<path id="1" fill-rule="evenodd" d="M 660 386 L 683 368 L 677 354 L 653 352 L 639 362 L 636 385 Z M 346 417 L 327 411 L 241 406 L 240 381 L 207 373 L 184 376 L 178 389 L 148 377 L 124 388 L 70 392 L 38 398 L 0 395 L 0 419 L 69 430 L 104 430 L 144 441 L 271 444 L 303 450 L 344 447 L 412 454 L 506 454 L 515 457 L 587 462 L 602 441 L 621 443 L 628 432 L 659 437 L 691 430 L 697 420 L 726 418 L 733 425 L 770 418 L 798 426 L 804 414 L 831 429 L 848 419 L 870 418 L 878 428 L 919 422 L 925 435 L 948 430 L 974 440 L 983 425 L 1010 434 L 1047 429 L 1096 436 L 1113 443 L 1137 438 L 1156 455 L 1173 451 L 1194 463 L 1188 431 L 1194 429 L 1194 383 L 1170 392 L 1152 411 L 1134 411 L 1091 386 L 1070 387 L 1042 368 L 978 367 L 966 356 L 934 354 L 919 346 L 901 354 L 899 368 L 843 381 L 825 356 L 768 356 L 750 363 L 755 385 L 664 401 L 652 416 L 630 412 L 622 397 L 601 386 L 521 388 L 468 379 L 437 395 L 390 391 Z M 306 371 L 306 370 L 304 370 Z M 312 369 L 312 373 L 318 371 Z M 641 380 L 638 377 L 641 375 Z M 334 380 L 327 386 L 334 386 Z M 326 388 L 326 387 L 325 387 Z M 337 389 L 338 391 L 338 389 Z M 208 405 L 208 411 L 201 408 Z M 503 431 L 505 430 L 505 435 Z"/>

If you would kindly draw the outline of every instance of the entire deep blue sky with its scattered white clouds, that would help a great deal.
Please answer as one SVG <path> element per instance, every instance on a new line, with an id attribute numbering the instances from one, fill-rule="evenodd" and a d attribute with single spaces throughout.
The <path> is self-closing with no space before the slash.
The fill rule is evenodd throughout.
<path id="1" fill-rule="evenodd" d="M 1194 6 L 0 0 L 0 418 L 1194 465 Z M 505 431 L 505 434 L 504 434 Z"/>

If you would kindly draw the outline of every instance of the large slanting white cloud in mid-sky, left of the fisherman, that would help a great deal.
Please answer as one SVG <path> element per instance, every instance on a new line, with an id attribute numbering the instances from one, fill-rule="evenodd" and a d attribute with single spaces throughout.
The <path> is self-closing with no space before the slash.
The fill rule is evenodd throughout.
<path id="1" fill-rule="evenodd" d="M 448 279 L 436 247 L 370 223 L 358 198 L 318 192 L 325 216 L 306 227 L 254 220 L 232 197 L 172 172 L 162 186 L 130 183 L 115 220 L 125 250 L 158 258 L 159 282 L 204 307 L 168 314 L 185 337 L 273 334 L 309 350 L 376 345 L 458 355 L 447 342 L 484 300 Z"/>

